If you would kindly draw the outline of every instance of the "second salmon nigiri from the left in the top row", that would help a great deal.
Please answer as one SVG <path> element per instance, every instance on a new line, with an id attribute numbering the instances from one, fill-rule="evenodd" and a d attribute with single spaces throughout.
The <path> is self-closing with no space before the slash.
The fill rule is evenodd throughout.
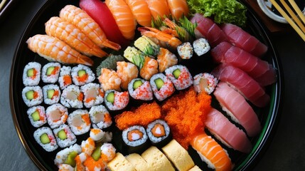
<path id="1" fill-rule="evenodd" d="M 151 11 L 146 0 L 125 0 L 138 24 L 151 26 Z"/>

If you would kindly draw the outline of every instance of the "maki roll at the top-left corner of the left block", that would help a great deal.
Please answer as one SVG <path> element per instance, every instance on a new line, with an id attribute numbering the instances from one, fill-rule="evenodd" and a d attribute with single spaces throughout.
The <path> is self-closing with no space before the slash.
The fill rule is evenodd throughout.
<path id="1" fill-rule="evenodd" d="M 41 64 L 36 62 L 28 63 L 23 69 L 23 85 L 37 86 L 41 81 Z"/>

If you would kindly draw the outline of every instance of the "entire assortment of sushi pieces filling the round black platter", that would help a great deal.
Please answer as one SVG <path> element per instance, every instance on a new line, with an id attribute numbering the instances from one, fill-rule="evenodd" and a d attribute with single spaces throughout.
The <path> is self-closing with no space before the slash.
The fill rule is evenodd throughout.
<path id="1" fill-rule="evenodd" d="M 252 150 L 262 129 L 255 108 L 269 104 L 265 86 L 277 81 L 261 58 L 267 46 L 188 12 L 185 0 L 80 0 L 28 38 L 48 63 L 24 66 L 21 95 L 58 170 L 203 169 L 193 157 L 232 170 L 230 152 Z M 206 58 L 220 64 L 192 72 Z"/>

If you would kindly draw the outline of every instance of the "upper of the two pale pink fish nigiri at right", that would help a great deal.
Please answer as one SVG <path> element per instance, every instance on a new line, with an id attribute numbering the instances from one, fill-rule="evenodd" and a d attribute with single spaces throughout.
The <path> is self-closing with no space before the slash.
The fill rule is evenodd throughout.
<path id="1" fill-rule="evenodd" d="M 232 120 L 245 128 L 247 135 L 253 137 L 260 132 L 262 128 L 255 111 L 240 93 L 222 82 L 218 83 L 214 95 Z"/>

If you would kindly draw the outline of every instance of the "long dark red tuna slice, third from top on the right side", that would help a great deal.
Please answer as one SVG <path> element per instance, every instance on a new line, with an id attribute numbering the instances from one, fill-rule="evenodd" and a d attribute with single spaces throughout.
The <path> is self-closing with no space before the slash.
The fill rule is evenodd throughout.
<path id="1" fill-rule="evenodd" d="M 228 42 L 222 42 L 212 49 L 214 61 L 229 63 L 242 69 L 255 79 L 261 86 L 268 86 L 277 81 L 277 73 L 267 61 L 262 61 L 257 56 L 242 50 Z"/>

